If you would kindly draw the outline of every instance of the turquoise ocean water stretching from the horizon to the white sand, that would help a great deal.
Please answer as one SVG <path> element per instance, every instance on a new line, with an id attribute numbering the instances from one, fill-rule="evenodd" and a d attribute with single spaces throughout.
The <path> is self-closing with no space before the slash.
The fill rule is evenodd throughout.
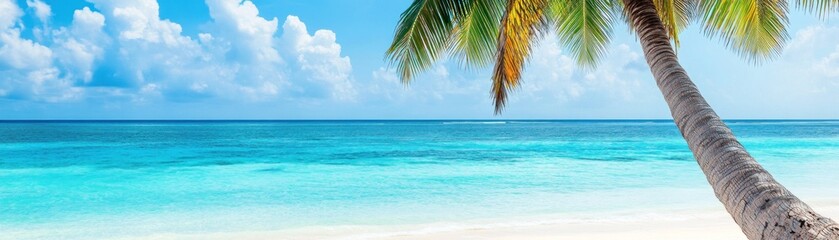
<path id="1" fill-rule="evenodd" d="M 839 121 L 727 123 L 799 197 L 839 199 Z M 0 122 L 0 239 L 719 206 L 669 120 Z"/>

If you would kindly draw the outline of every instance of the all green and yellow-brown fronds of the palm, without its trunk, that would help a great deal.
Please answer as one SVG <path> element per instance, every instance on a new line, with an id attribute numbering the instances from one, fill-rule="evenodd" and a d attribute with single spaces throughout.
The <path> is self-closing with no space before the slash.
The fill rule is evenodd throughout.
<path id="1" fill-rule="evenodd" d="M 695 22 L 752 62 L 777 56 L 789 38 L 785 0 L 652 2 L 677 47 L 679 33 Z M 795 6 L 826 16 L 839 9 L 839 0 L 798 0 Z M 624 9 L 620 0 L 415 0 L 402 13 L 386 55 L 406 83 L 446 57 L 466 67 L 495 63 L 491 94 L 500 113 L 540 36 L 557 34 L 581 66 L 594 67 L 615 23 L 632 26 Z"/>

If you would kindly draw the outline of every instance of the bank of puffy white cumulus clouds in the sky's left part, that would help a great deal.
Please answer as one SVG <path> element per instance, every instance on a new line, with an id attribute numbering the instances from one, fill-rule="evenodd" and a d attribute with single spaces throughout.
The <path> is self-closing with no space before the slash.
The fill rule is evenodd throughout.
<path id="1" fill-rule="evenodd" d="M 180 24 L 160 17 L 156 0 L 88 1 L 94 8 L 75 10 L 69 26 L 44 34 L 32 29 L 32 40 L 21 37 L 24 12 L 13 1 L 0 0 L 0 71 L 5 73 L 0 97 L 106 96 L 132 103 L 355 97 L 350 60 L 341 56 L 335 34 L 309 35 L 297 17 L 288 18 L 284 26 L 293 27 L 280 37 L 277 18 L 260 16 L 253 2 L 206 0 L 212 18 L 207 32 L 188 36 Z M 50 6 L 40 0 L 26 4 L 48 30 Z M 42 35 L 49 39 L 42 41 Z"/>

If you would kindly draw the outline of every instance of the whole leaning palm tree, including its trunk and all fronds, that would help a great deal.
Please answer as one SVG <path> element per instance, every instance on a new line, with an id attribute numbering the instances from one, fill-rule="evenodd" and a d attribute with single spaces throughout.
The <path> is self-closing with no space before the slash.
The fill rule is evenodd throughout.
<path id="1" fill-rule="evenodd" d="M 798 0 L 820 16 L 837 0 Z M 495 113 L 520 84 L 531 46 L 546 33 L 585 67 L 604 55 L 614 23 L 624 20 L 676 126 L 717 198 L 749 239 L 839 239 L 839 224 L 813 211 L 749 155 L 679 64 L 671 42 L 691 22 L 744 59 L 777 56 L 789 38 L 785 0 L 414 0 L 401 15 L 387 58 L 403 82 L 444 57 L 468 67 L 494 62 Z"/>

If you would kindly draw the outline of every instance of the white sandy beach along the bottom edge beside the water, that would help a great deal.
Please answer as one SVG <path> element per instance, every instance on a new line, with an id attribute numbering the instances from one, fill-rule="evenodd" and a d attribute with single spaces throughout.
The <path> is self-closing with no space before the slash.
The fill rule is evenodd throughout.
<path id="1" fill-rule="evenodd" d="M 839 219 L 839 202 L 812 202 Z M 531 219 L 400 226 L 334 226 L 283 231 L 160 234 L 142 239 L 745 239 L 720 206 L 661 213 L 623 213 L 596 217 L 545 216 Z"/>

